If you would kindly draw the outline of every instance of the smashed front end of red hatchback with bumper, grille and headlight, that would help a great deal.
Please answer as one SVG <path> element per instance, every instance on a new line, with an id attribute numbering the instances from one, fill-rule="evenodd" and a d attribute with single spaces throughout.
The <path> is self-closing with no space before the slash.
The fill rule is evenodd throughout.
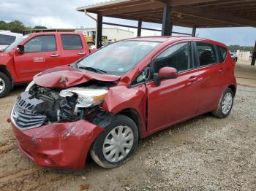
<path id="1" fill-rule="evenodd" d="M 101 108 L 111 82 L 76 87 L 41 87 L 34 82 L 11 112 L 20 150 L 37 164 L 81 170 L 94 139 L 113 114 Z"/>

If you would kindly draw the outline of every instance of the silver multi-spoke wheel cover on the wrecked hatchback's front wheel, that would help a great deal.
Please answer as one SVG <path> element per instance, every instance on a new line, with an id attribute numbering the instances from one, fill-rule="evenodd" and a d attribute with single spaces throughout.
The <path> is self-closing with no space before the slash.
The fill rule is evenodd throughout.
<path id="1" fill-rule="evenodd" d="M 109 162 L 119 162 L 127 157 L 132 149 L 134 135 L 128 126 L 117 126 L 108 133 L 103 143 L 103 155 Z"/>

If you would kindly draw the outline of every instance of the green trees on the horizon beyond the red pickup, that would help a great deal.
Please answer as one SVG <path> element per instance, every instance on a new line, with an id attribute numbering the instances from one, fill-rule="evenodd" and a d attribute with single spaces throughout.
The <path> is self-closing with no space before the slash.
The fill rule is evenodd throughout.
<path id="1" fill-rule="evenodd" d="M 24 26 L 19 20 L 13 20 L 10 23 L 4 22 L 4 20 L 0 20 L 0 30 L 4 31 L 12 31 L 15 33 L 22 33 L 23 30 L 32 30 L 32 29 L 47 29 L 45 26 L 35 26 L 31 28 L 30 26 Z"/>

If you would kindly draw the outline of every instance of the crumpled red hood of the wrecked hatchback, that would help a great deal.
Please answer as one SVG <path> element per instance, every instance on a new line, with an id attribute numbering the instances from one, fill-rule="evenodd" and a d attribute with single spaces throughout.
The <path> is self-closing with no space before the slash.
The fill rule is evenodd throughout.
<path id="1" fill-rule="evenodd" d="M 75 69 L 70 66 L 60 66 L 42 71 L 34 76 L 34 82 L 42 87 L 71 87 L 90 80 L 102 82 L 117 82 L 118 76 L 107 74 L 95 74 Z"/>

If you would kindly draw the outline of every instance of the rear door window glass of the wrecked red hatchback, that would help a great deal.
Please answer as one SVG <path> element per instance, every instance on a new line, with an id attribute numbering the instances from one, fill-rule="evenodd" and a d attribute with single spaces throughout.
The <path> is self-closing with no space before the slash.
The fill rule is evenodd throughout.
<path id="1" fill-rule="evenodd" d="M 214 50 L 214 44 L 197 42 L 197 52 L 200 66 L 207 66 L 217 63 L 217 56 Z"/>

